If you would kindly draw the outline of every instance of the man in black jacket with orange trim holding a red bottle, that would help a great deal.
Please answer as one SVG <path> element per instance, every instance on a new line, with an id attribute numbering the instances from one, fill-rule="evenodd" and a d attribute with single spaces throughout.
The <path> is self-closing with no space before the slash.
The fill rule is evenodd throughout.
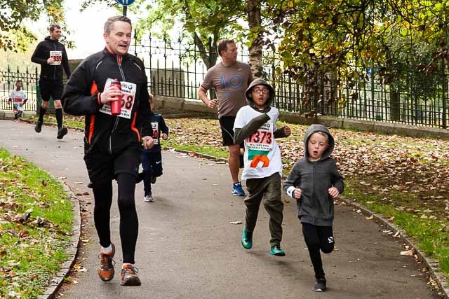
<path id="1" fill-rule="evenodd" d="M 128 18 L 109 18 L 103 34 L 105 49 L 81 62 L 62 95 L 66 113 L 86 116 L 84 161 L 95 199 L 93 217 L 101 245 L 98 275 L 102 281 L 114 277 L 115 246 L 111 242 L 109 220 L 112 180 L 116 179 L 118 184 L 122 286 L 140 286 L 134 267 L 138 238 L 134 192 L 140 149 L 142 145 L 145 149 L 154 145 L 152 127 L 142 122 L 151 111 L 145 67 L 140 59 L 128 54 L 131 32 Z M 120 81 L 121 90 L 111 85 L 112 81 Z M 121 113 L 114 116 L 110 104 L 116 100 L 121 102 Z"/>

